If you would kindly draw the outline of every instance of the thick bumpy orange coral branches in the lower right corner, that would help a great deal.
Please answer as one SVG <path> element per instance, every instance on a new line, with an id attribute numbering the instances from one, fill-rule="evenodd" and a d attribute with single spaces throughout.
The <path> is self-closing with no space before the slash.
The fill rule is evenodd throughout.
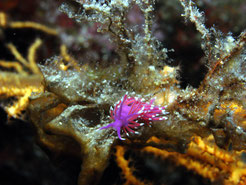
<path id="1" fill-rule="evenodd" d="M 224 185 L 242 185 L 246 182 L 246 165 L 240 159 L 241 153 L 230 153 L 219 148 L 212 135 L 205 139 L 193 137 L 185 154 L 152 146 L 147 146 L 142 151 L 172 160 L 211 181 L 223 177 Z"/>

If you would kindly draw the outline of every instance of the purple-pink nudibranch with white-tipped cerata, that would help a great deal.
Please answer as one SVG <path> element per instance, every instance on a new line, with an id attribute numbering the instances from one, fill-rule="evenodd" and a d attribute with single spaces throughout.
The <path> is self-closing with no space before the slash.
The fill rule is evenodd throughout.
<path id="1" fill-rule="evenodd" d="M 112 127 L 117 131 L 119 139 L 124 140 L 120 134 L 121 129 L 128 135 L 128 132 L 137 133 L 132 129 L 142 126 L 144 123 L 149 125 L 152 121 L 166 120 L 167 117 L 164 116 L 167 114 L 165 107 L 153 105 L 154 101 L 155 99 L 149 102 L 143 102 L 140 99 L 134 97 L 128 98 L 125 95 L 115 105 L 114 109 L 112 107 L 110 109 L 110 119 L 114 120 L 114 122 L 100 129 Z M 139 121 L 143 123 L 139 123 Z"/>

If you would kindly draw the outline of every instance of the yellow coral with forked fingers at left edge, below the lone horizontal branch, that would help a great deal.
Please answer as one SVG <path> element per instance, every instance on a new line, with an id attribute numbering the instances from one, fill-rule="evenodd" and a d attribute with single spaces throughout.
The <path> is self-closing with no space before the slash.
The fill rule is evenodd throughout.
<path id="1" fill-rule="evenodd" d="M 27 61 L 13 44 L 8 44 L 7 47 L 17 61 L 0 60 L 0 66 L 6 69 L 14 68 L 17 72 L 1 72 L 0 74 L 0 94 L 5 97 L 19 97 L 13 105 L 5 107 L 9 116 L 20 116 L 21 111 L 25 110 L 28 105 L 28 98 L 31 93 L 43 91 L 42 75 L 35 62 L 35 53 L 40 45 L 41 40 L 37 39 L 30 46 Z M 30 70 L 31 74 L 28 74 L 27 70 L 23 68 Z"/>

